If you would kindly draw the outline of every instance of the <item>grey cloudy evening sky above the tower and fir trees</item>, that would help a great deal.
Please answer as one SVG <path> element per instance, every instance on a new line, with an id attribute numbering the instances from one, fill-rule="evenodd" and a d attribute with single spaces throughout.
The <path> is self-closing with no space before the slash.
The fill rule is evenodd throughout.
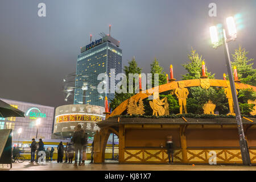
<path id="1" fill-rule="evenodd" d="M 38 4 L 46 3 L 46 17 Z M 217 17 L 208 15 L 209 3 L 217 4 Z M 175 78 L 186 71 L 191 47 L 205 59 L 209 71 L 222 79 L 226 72 L 222 47 L 210 45 L 209 26 L 242 15 L 238 39 L 248 57 L 256 58 L 256 0 L 1 0 L 0 1 L 0 98 L 59 106 L 65 104 L 63 77 L 75 72 L 80 47 L 89 35 L 108 33 L 120 40 L 123 65 L 133 56 L 143 72 L 156 57 Z M 255 68 L 255 66 L 254 66 Z"/>

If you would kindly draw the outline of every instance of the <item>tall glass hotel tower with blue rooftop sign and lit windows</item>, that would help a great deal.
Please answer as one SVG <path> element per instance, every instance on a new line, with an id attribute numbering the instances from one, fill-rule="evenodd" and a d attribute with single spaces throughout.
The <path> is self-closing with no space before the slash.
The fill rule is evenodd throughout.
<path id="1" fill-rule="evenodd" d="M 98 93 L 97 86 L 101 80 L 97 80 L 100 73 L 108 75 L 110 86 L 110 69 L 115 69 L 115 75 L 122 73 L 122 49 L 119 41 L 106 35 L 101 39 L 91 42 L 81 48 L 81 54 L 77 59 L 76 89 L 74 104 L 89 104 L 105 106 L 105 96 L 111 101 L 114 93 Z M 117 84 L 118 81 L 115 81 Z M 82 90 L 82 86 L 86 90 Z"/>

